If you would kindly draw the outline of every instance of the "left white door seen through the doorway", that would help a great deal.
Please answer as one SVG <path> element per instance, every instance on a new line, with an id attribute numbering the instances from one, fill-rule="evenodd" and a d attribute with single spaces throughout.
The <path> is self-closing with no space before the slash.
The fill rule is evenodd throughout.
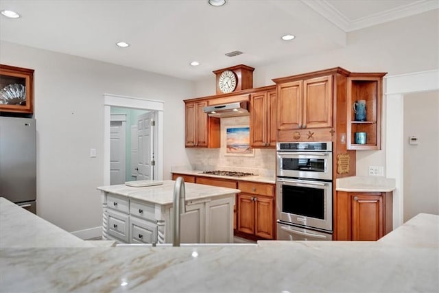
<path id="1" fill-rule="evenodd" d="M 125 183 L 125 121 L 110 122 L 110 184 Z"/>

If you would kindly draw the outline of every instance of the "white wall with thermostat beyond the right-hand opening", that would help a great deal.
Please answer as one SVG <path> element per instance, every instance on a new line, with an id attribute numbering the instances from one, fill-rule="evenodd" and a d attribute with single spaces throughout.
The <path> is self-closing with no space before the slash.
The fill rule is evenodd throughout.
<path id="1" fill-rule="evenodd" d="M 439 91 L 404 95 L 404 222 L 439 215 Z M 408 143 L 418 137 L 418 145 Z"/>

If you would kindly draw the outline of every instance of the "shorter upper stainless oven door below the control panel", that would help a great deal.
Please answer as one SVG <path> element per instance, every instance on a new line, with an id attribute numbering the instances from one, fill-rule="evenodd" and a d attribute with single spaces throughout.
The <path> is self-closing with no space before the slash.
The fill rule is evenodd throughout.
<path id="1" fill-rule="evenodd" d="M 332 180 L 331 152 L 277 152 L 277 176 Z"/>

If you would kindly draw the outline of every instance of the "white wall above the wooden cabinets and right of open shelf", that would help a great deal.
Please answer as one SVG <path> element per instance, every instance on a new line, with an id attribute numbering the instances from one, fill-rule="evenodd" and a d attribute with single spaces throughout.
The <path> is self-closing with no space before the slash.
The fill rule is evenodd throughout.
<path id="1" fill-rule="evenodd" d="M 439 10 L 383 23 L 347 34 L 342 49 L 256 67 L 253 86 L 274 84 L 273 78 L 332 67 L 353 72 L 388 72 L 388 75 L 439 68 Z M 297 40 L 299 40 L 298 36 Z M 294 49 L 294 43 L 292 43 Z M 237 64 L 239 64 L 237 58 Z M 252 66 L 251 64 L 246 64 Z M 196 95 L 215 94 L 215 75 L 197 82 Z M 368 166 L 385 167 L 385 97 L 383 97 L 383 140 L 379 151 L 357 152 L 357 175 L 367 175 Z"/>

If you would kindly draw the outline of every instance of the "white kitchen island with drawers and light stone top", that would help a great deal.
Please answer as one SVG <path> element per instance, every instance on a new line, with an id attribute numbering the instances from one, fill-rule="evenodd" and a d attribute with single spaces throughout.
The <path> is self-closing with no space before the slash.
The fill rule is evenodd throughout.
<path id="1" fill-rule="evenodd" d="M 134 244 L 171 243 L 174 183 L 98 187 L 103 191 L 103 238 Z M 180 242 L 233 242 L 233 204 L 239 189 L 193 183 L 185 183 L 185 189 Z"/>

